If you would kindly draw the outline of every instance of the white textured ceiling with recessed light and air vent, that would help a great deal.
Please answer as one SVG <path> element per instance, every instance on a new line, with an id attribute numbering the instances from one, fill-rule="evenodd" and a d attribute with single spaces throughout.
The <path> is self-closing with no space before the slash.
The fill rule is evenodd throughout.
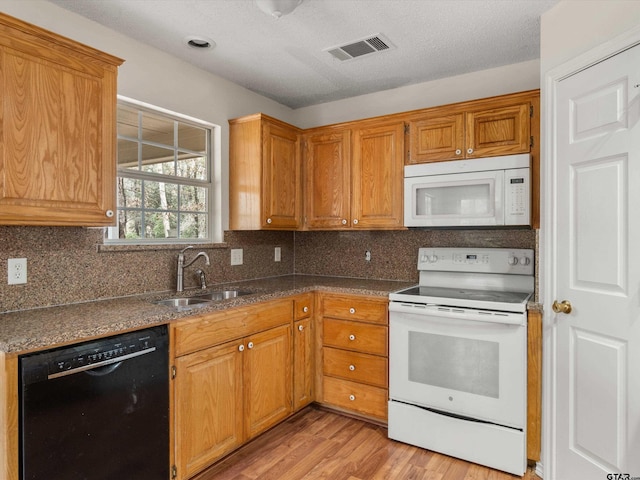
<path id="1" fill-rule="evenodd" d="M 540 15 L 558 0 L 304 0 L 280 19 L 254 0 L 50 1 L 299 108 L 537 59 Z M 393 48 L 324 51 L 376 34 Z"/>

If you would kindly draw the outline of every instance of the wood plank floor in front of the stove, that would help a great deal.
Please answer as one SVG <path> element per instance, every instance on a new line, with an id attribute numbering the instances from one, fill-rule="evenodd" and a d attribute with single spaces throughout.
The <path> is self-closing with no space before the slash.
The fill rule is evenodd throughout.
<path id="1" fill-rule="evenodd" d="M 386 428 L 307 407 L 193 480 L 515 480 L 389 440 Z M 528 471 L 524 480 L 540 480 Z"/>

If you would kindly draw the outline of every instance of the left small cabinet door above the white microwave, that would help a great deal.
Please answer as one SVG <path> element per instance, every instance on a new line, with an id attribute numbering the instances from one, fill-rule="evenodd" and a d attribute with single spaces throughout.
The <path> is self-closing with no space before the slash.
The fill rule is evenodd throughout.
<path id="1" fill-rule="evenodd" d="M 409 160 L 428 163 L 464 158 L 464 114 L 409 122 Z"/>

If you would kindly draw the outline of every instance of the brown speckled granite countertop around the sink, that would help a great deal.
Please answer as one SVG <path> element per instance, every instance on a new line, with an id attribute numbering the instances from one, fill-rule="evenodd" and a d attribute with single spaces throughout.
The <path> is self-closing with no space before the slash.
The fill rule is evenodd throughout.
<path id="1" fill-rule="evenodd" d="M 0 352 L 35 351 L 310 291 L 387 296 L 411 285 L 387 280 L 286 275 L 212 286 L 206 291 L 235 288 L 254 293 L 188 310 L 157 305 L 153 301 L 206 291 L 162 292 L 9 312 L 0 314 Z"/>

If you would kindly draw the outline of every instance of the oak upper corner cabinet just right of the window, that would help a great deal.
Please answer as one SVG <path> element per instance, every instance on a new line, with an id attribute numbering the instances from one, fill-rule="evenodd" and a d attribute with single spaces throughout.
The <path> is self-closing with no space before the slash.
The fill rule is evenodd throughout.
<path id="1" fill-rule="evenodd" d="M 229 121 L 231 230 L 300 226 L 300 131 L 263 114 Z"/>

